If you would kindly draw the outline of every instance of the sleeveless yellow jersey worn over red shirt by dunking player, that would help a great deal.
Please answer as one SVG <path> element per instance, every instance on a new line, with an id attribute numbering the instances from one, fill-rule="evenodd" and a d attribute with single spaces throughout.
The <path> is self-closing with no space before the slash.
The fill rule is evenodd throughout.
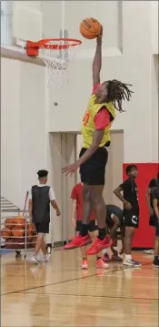
<path id="1" fill-rule="evenodd" d="M 95 130 L 94 117 L 102 107 L 106 107 L 106 109 L 111 114 L 112 119 L 110 124 L 104 128 L 104 137 L 102 138 L 101 143 L 99 144 L 99 148 L 104 147 L 105 143 L 111 142 L 109 129 L 111 128 L 115 118 L 114 105 L 112 102 L 98 104 L 95 103 L 95 100 L 96 100 L 96 96 L 93 94 L 88 102 L 88 107 L 85 111 L 84 118 L 83 118 L 82 135 L 83 135 L 84 148 L 90 148 L 93 143 L 94 130 Z"/>

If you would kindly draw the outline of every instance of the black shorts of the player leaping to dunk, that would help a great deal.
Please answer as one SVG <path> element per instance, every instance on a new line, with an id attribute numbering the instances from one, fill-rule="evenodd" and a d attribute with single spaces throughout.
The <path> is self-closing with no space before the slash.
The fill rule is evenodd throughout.
<path id="1" fill-rule="evenodd" d="M 80 157 L 83 156 L 87 148 L 82 148 Z M 104 173 L 108 159 L 106 148 L 98 148 L 91 158 L 80 167 L 81 181 L 87 185 L 104 185 Z"/>

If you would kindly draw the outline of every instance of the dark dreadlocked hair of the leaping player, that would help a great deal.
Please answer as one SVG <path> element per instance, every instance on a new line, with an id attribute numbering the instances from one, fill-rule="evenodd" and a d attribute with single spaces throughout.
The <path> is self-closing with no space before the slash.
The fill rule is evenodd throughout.
<path id="1" fill-rule="evenodd" d="M 132 97 L 132 93 L 134 93 L 128 88 L 128 86 L 132 87 L 131 84 L 124 84 L 116 79 L 108 81 L 106 95 L 107 101 L 112 101 L 114 107 L 119 112 L 124 112 L 122 108 L 122 100 L 126 99 L 127 101 L 130 101 L 130 97 Z"/>

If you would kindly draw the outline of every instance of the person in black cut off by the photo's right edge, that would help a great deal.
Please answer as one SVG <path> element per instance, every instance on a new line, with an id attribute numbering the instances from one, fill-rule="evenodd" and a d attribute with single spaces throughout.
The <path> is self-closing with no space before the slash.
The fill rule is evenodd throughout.
<path id="1" fill-rule="evenodd" d="M 156 216 L 153 266 L 159 268 L 159 172 L 156 188 L 153 189 L 153 209 Z"/>

